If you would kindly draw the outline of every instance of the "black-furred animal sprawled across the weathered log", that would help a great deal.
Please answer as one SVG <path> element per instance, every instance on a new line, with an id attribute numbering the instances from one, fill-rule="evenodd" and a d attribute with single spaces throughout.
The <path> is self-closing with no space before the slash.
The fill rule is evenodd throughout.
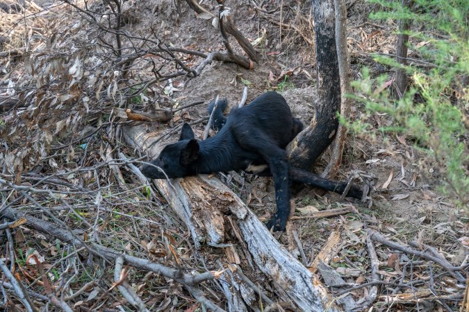
<path id="1" fill-rule="evenodd" d="M 277 213 L 267 226 L 274 227 L 276 231 L 285 230 L 290 214 L 290 180 L 343 193 L 345 182 L 332 182 L 288 164 L 285 148 L 303 125 L 293 118 L 283 96 L 275 92 L 262 94 L 245 107 L 234 107 L 228 119 L 222 116 L 225 106 L 222 102 L 214 112 L 217 120 L 215 127 L 221 127 L 217 135 L 197 141 L 194 132 L 185 123 L 179 141 L 165 146 L 151 164 L 161 168 L 167 177 L 231 170 L 272 175 Z M 143 166 L 142 173 L 151 179 L 165 178 L 158 168 L 150 165 Z M 352 186 L 347 195 L 361 198 L 362 192 Z"/>

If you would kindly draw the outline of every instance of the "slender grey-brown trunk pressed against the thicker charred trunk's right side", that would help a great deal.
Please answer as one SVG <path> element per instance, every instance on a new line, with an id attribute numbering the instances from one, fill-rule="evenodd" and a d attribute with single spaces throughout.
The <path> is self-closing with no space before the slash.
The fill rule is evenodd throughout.
<path id="1" fill-rule="evenodd" d="M 334 0 L 334 9 L 336 12 L 336 46 L 340 73 L 340 98 L 342 99 L 340 116 L 347 119 L 350 116 L 352 99 L 346 98 L 345 94 L 351 94 L 352 87 L 350 86 L 350 63 L 347 49 L 347 8 L 345 7 L 345 0 Z M 322 172 L 323 177 L 327 175 L 334 177 L 336 175 L 342 162 L 346 138 L 347 128 L 345 128 L 345 125 L 339 124 L 336 139 L 332 145 L 331 159 Z"/>

